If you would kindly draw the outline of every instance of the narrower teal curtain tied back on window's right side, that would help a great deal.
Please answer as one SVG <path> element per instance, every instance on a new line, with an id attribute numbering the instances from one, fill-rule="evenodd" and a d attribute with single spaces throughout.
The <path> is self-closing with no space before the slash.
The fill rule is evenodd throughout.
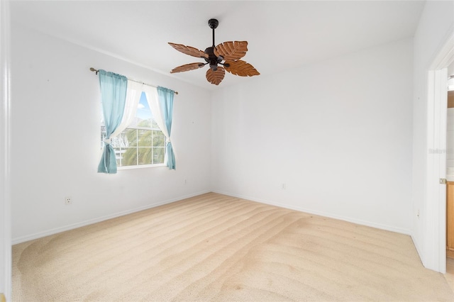
<path id="1" fill-rule="evenodd" d="M 159 101 L 162 121 L 164 122 L 167 131 L 167 145 L 165 146 L 165 162 L 169 169 L 175 170 L 175 154 L 172 148 L 172 142 L 170 141 L 170 131 L 172 130 L 172 113 L 173 113 L 173 96 L 175 91 L 157 87 L 157 99 Z"/>

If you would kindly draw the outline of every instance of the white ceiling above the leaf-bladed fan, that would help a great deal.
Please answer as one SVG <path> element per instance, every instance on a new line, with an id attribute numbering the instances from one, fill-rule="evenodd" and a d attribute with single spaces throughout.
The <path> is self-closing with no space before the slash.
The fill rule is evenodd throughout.
<path id="1" fill-rule="evenodd" d="M 12 1 L 11 21 L 216 89 L 208 67 L 170 74 L 196 57 L 167 42 L 200 50 L 247 40 L 243 60 L 262 77 L 414 35 L 424 1 Z M 109 66 L 94 66 L 110 70 Z M 115 70 L 111 70 L 115 72 Z M 127 74 L 126 74 L 127 75 Z M 226 73 L 219 86 L 248 78 Z"/>

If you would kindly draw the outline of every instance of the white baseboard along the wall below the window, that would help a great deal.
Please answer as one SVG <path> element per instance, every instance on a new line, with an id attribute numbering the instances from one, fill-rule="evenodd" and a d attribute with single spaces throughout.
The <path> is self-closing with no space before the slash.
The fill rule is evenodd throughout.
<path id="1" fill-rule="evenodd" d="M 122 212 L 114 213 L 114 214 L 111 214 L 111 215 L 101 216 L 99 218 L 85 220 L 85 221 L 82 221 L 80 223 L 72 223 L 70 225 L 64 225 L 64 226 L 59 227 L 59 228 L 52 228 L 50 230 L 45 230 L 43 232 L 38 232 L 38 233 L 33 233 L 31 235 L 16 237 L 16 238 L 13 238 L 12 244 L 16 245 L 16 244 L 21 243 L 21 242 L 26 242 L 26 241 L 38 239 L 38 238 L 41 238 L 41 237 L 54 235 L 54 234 L 57 234 L 57 233 L 62 233 L 62 232 L 65 232 L 66 230 L 73 230 L 74 228 L 80 228 L 80 227 L 83 227 L 85 225 L 91 225 L 93 223 L 99 223 L 99 222 L 104 221 L 104 220 L 109 220 L 109 219 L 112 219 L 112 218 L 125 216 L 125 215 L 131 214 L 131 213 L 147 210 L 148 208 L 155 208 L 157 206 L 162 206 L 162 205 L 165 205 L 167 203 L 180 201 L 182 199 L 191 198 L 191 197 L 194 197 L 194 196 L 199 196 L 201 194 L 206 194 L 206 193 L 209 193 L 209 192 L 211 192 L 211 191 L 200 191 L 200 192 L 197 192 L 197 193 L 194 193 L 194 194 L 189 194 L 189 195 L 186 195 L 186 196 L 180 196 L 180 197 L 177 197 L 177 198 L 167 199 L 165 201 L 160 201 L 158 203 L 148 204 L 147 206 L 141 206 L 139 208 L 133 208 L 133 209 L 127 210 L 127 211 L 122 211 Z"/>

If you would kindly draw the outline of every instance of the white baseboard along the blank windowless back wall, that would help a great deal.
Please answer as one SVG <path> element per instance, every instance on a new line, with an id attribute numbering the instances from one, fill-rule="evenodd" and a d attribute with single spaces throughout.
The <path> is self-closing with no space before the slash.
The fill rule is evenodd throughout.
<path id="1" fill-rule="evenodd" d="M 289 206 L 289 205 L 284 204 L 284 203 L 277 203 L 277 202 L 274 202 L 274 201 L 268 201 L 268 200 L 261 199 L 261 198 L 254 198 L 254 197 L 251 197 L 251 196 L 244 196 L 244 195 L 241 195 L 241 194 L 231 194 L 229 192 L 217 191 L 217 190 L 215 190 L 213 192 L 214 193 L 218 193 L 218 194 L 224 194 L 224 195 L 228 195 L 228 196 L 248 199 L 250 201 L 257 201 L 257 202 L 260 202 L 260 203 L 269 204 L 270 206 L 279 206 L 281 208 L 289 208 L 290 210 L 294 210 L 294 211 L 314 214 L 314 215 L 323 216 L 323 217 L 327 217 L 327 218 L 338 219 L 338 220 L 344 220 L 344 221 L 348 221 L 349 223 L 356 223 L 358 225 L 370 226 L 372 228 L 378 228 L 380 230 L 389 230 L 391 232 L 395 232 L 395 233 L 400 233 L 400 234 L 410 235 L 411 236 L 411 230 L 407 230 L 407 229 L 404 229 L 404 228 L 395 228 L 395 227 L 390 226 L 390 225 L 382 225 L 380 223 L 372 223 L 372 222 L 367 221 L 367 220 L 360 220 L 360 219 L 355 219 L 355 218 L 350 218 L 350 217 L 345 217 L 345 216 L 333 215 L 332 213 L 314 211 L 314 210 L 311 210 L 309 208 L 302 208 L 302 207 L 299 207 L 299 206 Z"/>

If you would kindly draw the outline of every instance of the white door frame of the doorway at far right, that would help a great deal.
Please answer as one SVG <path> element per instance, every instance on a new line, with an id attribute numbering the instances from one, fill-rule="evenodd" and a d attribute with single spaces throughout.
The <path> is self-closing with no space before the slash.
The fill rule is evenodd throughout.
<path id="1" fill-rule="evenodd" d="M 454 33 L 450 35 L 428 69 L 427 174 L 425 266 L 446 272 L 446 116 L 448 113 L 448 71 L 454 62 Z M 432 152 L 431 152 L 432 149 Z"/>

